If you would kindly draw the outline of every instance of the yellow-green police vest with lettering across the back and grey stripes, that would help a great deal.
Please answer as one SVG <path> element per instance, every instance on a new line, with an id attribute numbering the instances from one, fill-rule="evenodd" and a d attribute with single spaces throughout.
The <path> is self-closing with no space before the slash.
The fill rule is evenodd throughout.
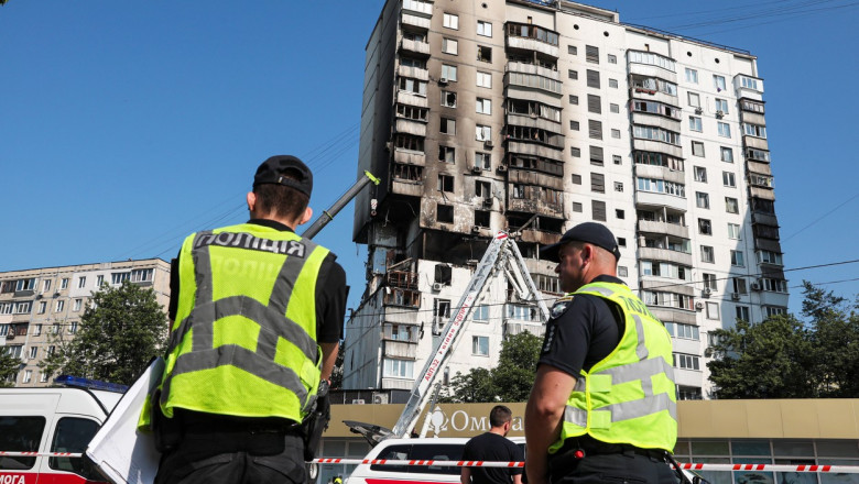
<path id="1" fill-rule="evenodd" d="M 319 385 L 316 282 L 328 250 L 244 223 L 180 252 L 161 408 L 302 421 Z"/>

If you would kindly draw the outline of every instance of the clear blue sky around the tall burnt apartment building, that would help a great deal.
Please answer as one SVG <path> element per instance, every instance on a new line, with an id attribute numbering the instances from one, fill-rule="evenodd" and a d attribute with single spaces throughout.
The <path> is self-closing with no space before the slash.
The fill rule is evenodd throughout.
<path id="1" fill-rule="evenodd" d="M 365 45 L 381 0 L 9 0 L 0 7 L 0 271 L 168 260 L 188 232 L 247 219 L 257 165 L 296 154 L 318 212 L 352 184 Z M 785 268 L 859 258 L 859 2 L 591 4 L 751 51 Z M 351 206 L 316 238 L 363 290 Z M 789 271 L 791 286 L 859 264 Z M 848 298 L 859 282 L 826 286 Z M 791 309 L 801 295 L 792 289 Z"/>

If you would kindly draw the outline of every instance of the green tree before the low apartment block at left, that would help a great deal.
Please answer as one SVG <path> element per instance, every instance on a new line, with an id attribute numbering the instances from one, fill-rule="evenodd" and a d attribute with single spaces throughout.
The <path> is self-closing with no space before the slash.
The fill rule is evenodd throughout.
<path id="1" fill-rule="evenodd" d="M 126 282 L 93 295 L 73 339 L 62 333 L 43 371 L 130 385 L 163 352 L 167 319 L 152 288 Z"/>

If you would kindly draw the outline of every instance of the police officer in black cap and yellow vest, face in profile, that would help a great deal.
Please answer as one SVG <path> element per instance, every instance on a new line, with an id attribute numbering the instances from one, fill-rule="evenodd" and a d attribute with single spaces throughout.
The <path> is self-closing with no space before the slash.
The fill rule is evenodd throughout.
<path id="1" fill-rule="evenodd" d="M 580 223 L 541 257 L 558 263 L 566 294 L 525 408 L 529 484 L 676 483 L 671 337 L 617 277 L 615 235 Z"/>

